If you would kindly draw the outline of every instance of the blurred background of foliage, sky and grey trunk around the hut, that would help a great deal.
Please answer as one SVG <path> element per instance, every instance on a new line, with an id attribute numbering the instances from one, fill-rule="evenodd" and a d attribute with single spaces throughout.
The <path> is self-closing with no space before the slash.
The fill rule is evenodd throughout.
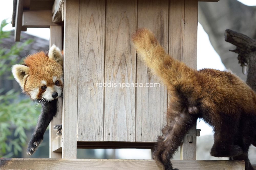
<path id="1" fill-rule="evenodd" d="M 198 2 L 197 69 L 229 69 L 242 80 L 246 75 L 238 64 L 235 47 L 225 42 L 224 32 L 231 29 L 256 39 L 256 1 L 220 0 Z M 10 24 L 13 1 L 0 0 L 0 157 L 28 158 L 26 145 L 31 137 L 41 106 L 32 103 L 11 75 L 10 68 L 23 57 L 39 50 L 49 50 L 50 30 L 28 28 L 21 33 L 21 41 L 14 42 Z M 204 121 L 197 137 L 197 160 L 228 160 L 210 156 L 213 132 Z M 49 158 L 49 130 L 44 141 L 29 158 Z M 78 149 L 77 158 L 97 159 L 152 159 L 151 149 Z M 174 159 L 180 159 L 179 151 Z M 256 164 L 256 148 L 251 146 L 249 159 Z"/>

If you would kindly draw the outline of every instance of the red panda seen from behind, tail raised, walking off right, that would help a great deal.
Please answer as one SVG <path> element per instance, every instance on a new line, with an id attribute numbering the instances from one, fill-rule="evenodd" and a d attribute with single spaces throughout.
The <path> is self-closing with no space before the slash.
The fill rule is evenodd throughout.
<path id="1" fill-rule="evenodd" d="M 169 56 L 147 29 L 138 29 L 132 40 L 138 56 L 167 85 L 171 97 L 167 120 L 158 136 L 153 158 L 161 170 L 172 170 L 172 159 L 186 131 L 197 119 L 214 128 L 210 154 L 244 160 L 254 170 L 248 149 L 256 146 L 256 95 L 236 75 L 214 69 L 194 70 Z M 175 168 L 175 170 L 178 170 Z"/>

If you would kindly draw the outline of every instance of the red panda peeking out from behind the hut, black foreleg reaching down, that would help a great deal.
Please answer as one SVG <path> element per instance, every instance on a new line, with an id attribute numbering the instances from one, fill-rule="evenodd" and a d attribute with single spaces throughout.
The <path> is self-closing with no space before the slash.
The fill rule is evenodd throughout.
<path id="1" fill-rule="evenodd" d="M 24 64 L 12 67 L 12 73 L 31 100 L 42 105 L 35 131 L 28 143 L 27 154 L 33 154 L 43 140 L 43 135 L 57 113 L 58 97 L 63 90 L 63 55 L 58 47 L 51 46 L 49 53 L 40 51 L 24 59 Z M 55 126 L 61 134 L 61 125 Z"/>

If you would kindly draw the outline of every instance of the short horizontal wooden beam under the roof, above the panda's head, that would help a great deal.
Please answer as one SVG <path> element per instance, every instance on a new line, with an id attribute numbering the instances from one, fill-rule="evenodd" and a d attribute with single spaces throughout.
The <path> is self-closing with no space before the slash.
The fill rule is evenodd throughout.
<path id="1" fill-rule="evenodd" d="M 50 25 L 58 26 L 52 22 L 51 10 L 24 11 L 22 26 L 28 28 L 50 28 Z"/>

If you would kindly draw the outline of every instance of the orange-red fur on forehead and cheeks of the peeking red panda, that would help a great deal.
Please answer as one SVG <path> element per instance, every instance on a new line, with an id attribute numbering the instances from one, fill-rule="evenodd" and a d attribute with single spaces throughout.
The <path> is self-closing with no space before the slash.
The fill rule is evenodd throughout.
<path id="1" fill-rule="evenodd" d="M 47 54 L 45 54 L 43 51 L 27 56 L 24 59 L 24 63 L 30 68 L 28 74 L 30 76 L 26 78 L 26 83 L 24 86 L 24 91 L 26 93 L 29 94 L 31 90 L 39 88 L 37 97 L 38 99 L 41 99 L 41 95 L 45 91 L 40 88 L 42 86 L 41 80 L 45 80 L 47 82 L 47 86 L 52 87 L 55 84 L 55 82 L 52 80 L 53 76 L 56 76 L 57 80 L 59 80 L 60 83 L 58 86 L 63 88 L 63 83 L 61 80 L 63 78 L 62 65 L 55 60 L 49 59 Z"/>

